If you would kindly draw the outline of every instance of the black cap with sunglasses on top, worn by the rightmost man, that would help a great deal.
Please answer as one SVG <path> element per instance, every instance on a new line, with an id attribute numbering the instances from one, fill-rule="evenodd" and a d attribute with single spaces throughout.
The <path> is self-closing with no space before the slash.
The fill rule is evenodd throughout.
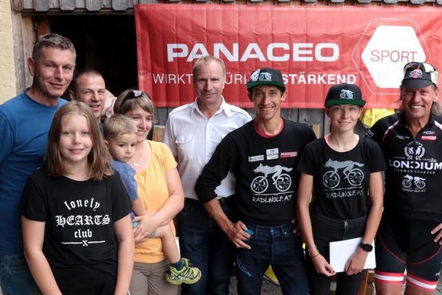
<path id="1" fill-rule="evenodd" d="M 403 67 L 402 85 L 408 88 L 437 86 L 437 70 L 431 64 L 412 61 Z"/>

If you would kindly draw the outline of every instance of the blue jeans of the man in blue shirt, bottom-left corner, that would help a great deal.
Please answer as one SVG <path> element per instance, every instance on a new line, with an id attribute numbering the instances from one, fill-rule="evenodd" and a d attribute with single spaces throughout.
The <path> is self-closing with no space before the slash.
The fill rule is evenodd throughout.
<path id="1" fill-rule="evenodd" d="M 3 295 L 41 294 L 23 255 L 0 254 L 0 285 Z"/>

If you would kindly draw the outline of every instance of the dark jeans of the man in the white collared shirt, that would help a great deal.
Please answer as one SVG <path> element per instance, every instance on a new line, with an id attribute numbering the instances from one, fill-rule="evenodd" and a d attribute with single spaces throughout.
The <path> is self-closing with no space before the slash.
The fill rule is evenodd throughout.
<path id="1" fill-rule="evenodd" d="M 234 221 L 231 198 L 220 199 L 222 210 Z M 181 294 L 229 294 L 233 244 L 198 200 L 186 198 L 177 215 L 181 256 L 201 270 L 201 279 L 182 285 Z"/>

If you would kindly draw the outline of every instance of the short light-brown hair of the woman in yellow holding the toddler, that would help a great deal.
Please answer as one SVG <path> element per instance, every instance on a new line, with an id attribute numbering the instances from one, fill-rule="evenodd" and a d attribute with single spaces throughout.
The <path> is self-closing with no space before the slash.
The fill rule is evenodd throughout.
<path id="1" fill-rule="evenodd" d="M 151 96 L 148 93 L 140 91 L 140 96 L 133 97 L 132 99 L 126 99 L 126 96 L 131 91 L 138 91 L 134 89 L 126 89 L 122 93 L 120 93 L 113 104 L 113 112 L 116 114 L 126 115 L 127 112 L 132 111 L 135 106 L 140 106 L 144 111 L 151 113 L 152 117 L 154 116 L 155 106 L 153 106 L 153 102 Z"/>

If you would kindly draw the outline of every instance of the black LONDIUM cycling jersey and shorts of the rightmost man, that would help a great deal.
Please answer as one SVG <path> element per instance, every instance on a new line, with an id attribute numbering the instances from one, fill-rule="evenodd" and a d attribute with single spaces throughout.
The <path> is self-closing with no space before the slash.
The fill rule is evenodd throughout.
<path id="1" fill-rule="evenodd" d="M 367 132 L 387 164 L 384 213 L 376 236 L 375 279 L 434 291 L 442 251 L 431 230 L 442 222 L 442 124 L 429 122 L 414 138 L 404 115 L 385 117 Z"/>

